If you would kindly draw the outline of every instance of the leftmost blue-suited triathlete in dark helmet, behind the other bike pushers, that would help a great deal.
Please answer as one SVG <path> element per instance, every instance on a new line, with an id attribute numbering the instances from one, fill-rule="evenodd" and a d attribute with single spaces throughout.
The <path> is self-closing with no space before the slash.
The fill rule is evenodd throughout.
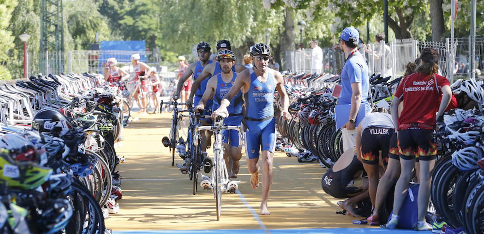
<path id="1" fill-rule="evenodd" d="M 208 64 L 211 64 L 213 60 L 210 60 L 210 54 L 211 54 L 212 47 L 210 46 L 209 43 L 202 41 L 197 44 L 197 53 L 198 53 L 198 58 L 199 61 L 196 63 L 192 63 L 188 66 L 186 71 L 183 73 L 183 75 L 180 77 L 178 84 L 177 84 L 177 90 L 175 94 L 173 94 L 173 100 L 178 100 L 180 97 L 180 92 L 183 87 L 183 83 L 190 78 L 192 75 L 195 79 L 198 78 L 198 76 L 202 73 L 203 68 L 206 67 Z M 201 93 L 203 95 L 203 93 Z M 187 105 L 188 106 L 188 105 Z M 211 107 L 212 106 L 212 100 L 207 101 L 207 106 Z M 202 125 L 210 125 L 210 122 L 202 120 L 201 121 Z M 203 151 L 207 149 L 207 135 L 205 133 L 205 130 L 200 131 L 200 134 L 202 136 L 201 138 L 201 148 Z M 180 170 L 187 171 L 189 169 L 190 165 L 190 160 L 188 157 L 185 159 L 185 162 L 183 165 L 181 165 Z"/>

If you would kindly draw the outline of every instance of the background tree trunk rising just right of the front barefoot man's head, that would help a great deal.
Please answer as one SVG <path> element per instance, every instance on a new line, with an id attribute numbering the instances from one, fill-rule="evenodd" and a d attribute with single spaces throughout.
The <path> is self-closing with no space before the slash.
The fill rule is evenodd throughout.
<path id="1" fill-rule="evenodd" d="M 292 8 L 284 9 L 284 31 L 279 35 L 279 44 L 280 44 L 280 51 L 279 57 L 282 61 L 286 62 L 283 58 L 285 57 L 286 51 L 292 51 L 296 48 L 294 44 L 294 39 L 296 37 L 296 33 L 294 31 L 294 18 L 292 17 L 294 14 L 294 10 Z M 280 64 L 281 70 L 286 69 L 285 63 Z"/>

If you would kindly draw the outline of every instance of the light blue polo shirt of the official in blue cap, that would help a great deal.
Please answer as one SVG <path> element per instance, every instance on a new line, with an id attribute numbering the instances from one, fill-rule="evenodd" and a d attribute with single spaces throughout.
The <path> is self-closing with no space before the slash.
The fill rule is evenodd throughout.
<path id="1" fill-rule="evenodd" d="M 362 102 L 367 103 L 368 98 L 368 65 L 360 52 L 356 51 L 346 61 L 345 66 L 341 70 L 341 97 L 338 98 L 338 104 L 351 104 L 351 83 L 362 83 Z"/>

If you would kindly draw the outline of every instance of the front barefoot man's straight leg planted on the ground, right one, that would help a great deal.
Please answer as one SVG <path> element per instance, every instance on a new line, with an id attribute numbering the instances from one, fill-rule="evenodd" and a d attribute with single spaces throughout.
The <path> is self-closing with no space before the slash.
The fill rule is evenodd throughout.
<path id="1" fill-rule="evenodd" d="M 272 171 L 272 160 L 274 153 L 270 151 L 262 151 L 262 202 L 260 203 L 260 214 L 270 215 L 267 209 L 267 200 L 269 200 L 269 193 L 271 192 L 272 179 L 274 172 Z"/>

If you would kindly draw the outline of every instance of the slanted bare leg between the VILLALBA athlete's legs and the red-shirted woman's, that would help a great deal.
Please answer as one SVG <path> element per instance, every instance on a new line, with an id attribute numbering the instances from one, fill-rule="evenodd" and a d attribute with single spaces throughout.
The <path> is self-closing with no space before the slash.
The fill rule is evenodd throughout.
<path id="1" fill-rule="evenodd" d="M 388 191 L 391 189 L 392 184 L 398 179 L 400 176 L 400 161 L 389 158 L 388 159 L 388 166 L 385 174 L 381 177 L 380 181 L 378 182 L 377 194 L 375 199 L 375 208 L 373 209 L 373 218 L 372 220 L 378 220 L 378 209 L 380 206 L 383 206 L 385 202 L 386 196 Z"/>

